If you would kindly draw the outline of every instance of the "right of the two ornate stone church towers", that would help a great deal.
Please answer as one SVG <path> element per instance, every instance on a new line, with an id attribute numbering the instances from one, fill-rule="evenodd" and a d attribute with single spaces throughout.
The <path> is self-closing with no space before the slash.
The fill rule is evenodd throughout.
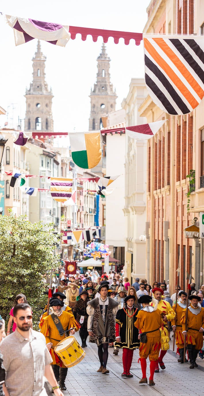
<path id="1" fill-rule="evenodd" d="M 103 43 L 101 53 L 97 57 L 97 77 L 93 91 L 91 90 L 91 113 L 89 118 L 89 130 L 103 128 L 101 115 L 116 109 L 116 92 L 110 82 L 110 58 L 106 53 Z"/>

